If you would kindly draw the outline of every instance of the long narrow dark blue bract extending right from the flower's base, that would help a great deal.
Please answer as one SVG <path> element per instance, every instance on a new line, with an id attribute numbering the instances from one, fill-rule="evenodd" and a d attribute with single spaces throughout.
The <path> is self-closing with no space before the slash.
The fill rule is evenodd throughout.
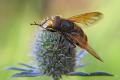
<path id="1" fill-rule="evenodd" d="M 113 76 L 111 73 L 107 72 L 70 72 L 68 75 L 71 76 Z"/>

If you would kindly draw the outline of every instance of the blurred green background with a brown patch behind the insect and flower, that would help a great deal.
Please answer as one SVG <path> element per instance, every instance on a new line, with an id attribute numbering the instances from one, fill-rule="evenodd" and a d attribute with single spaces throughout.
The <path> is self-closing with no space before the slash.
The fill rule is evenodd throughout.
<path id="1" fill-rule="evenodd" d="M 3 68 L 30 61 L 30 45 L 36 26 L 46 16 L 70 17 L 80 13 L 100 11 L 104 18 L 97 24 L 83 28 L 91 46 L 99 52 L 104 63 L 91 55 L 85 57 L 91 65 L 77 71 L 107 71 L 114 77 L 64 76 L 63 80 L 119 80 L 120 79 L 120 0 L 0 0 L 0 80 L 50 80 L 48 77 L 9 78 L 16 71 Z"/>

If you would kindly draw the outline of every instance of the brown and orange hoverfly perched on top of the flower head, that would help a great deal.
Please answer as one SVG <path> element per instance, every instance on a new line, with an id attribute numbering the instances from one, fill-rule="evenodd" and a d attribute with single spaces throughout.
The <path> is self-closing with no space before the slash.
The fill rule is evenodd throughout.
<path id="1" fill-rule="evenodd" d="M 93 24 L 99 19 L 101 19 L 102 13 L 100 12 L 90 12 L 84 13 L 70 18 L 61 18 L 60 16 L 52 16 L 47 18 L 42 24 L 32 24 L 39 25 L 44 29 L 50 31 L 58 31 L 62 33 L 66 39 L 68 39 L 74 46 L 77 45 L 82 49 L 85 49 L 91 55 L 93 55 L 98 60 L 102 59 L 98 54 L 90 47 L 88 44 L 87 36 L 80 26 L 76 23 L 81 23 L 83 25 Z"/>

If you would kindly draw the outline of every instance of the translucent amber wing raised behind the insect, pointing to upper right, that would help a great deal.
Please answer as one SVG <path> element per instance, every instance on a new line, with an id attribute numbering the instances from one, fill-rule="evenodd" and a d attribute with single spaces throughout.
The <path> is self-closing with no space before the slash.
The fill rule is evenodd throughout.
<path id="1" fill-rule="evenodd" d="M 72 16 L 68 18 L 68 20 L 89 26 L 90 24 L 93 24 L 98 20 L 100 20 L 102 16 L 103 15 L 100 12 L 90 12 L 90 13 L 84 13 L 84 14 Z"/>

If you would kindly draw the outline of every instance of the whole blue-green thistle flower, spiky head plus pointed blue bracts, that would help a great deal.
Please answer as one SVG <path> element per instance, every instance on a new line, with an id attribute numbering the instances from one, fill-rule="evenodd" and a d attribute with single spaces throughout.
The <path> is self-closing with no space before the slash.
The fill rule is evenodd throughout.
<path id="1" fill-rule="evenodd" d="M 38 28 L 35 38 L 32 55 L 36 66 L 20 63 L 27 68 L 8 67 L 7 70 L 19 70 L 21 72 L 12 77 L 35 77 L 52 76 L 53 80 L 59 80 L 62 75 L 71 76 L 112 76 L 106 72 L 74 72 L 76 67 L 85 66 L 79 60 L 84 57 L 86 51 L 83 50 L 76 55 L 75 46 L 71 44 L 59 32 L 51 32 Z"/>

